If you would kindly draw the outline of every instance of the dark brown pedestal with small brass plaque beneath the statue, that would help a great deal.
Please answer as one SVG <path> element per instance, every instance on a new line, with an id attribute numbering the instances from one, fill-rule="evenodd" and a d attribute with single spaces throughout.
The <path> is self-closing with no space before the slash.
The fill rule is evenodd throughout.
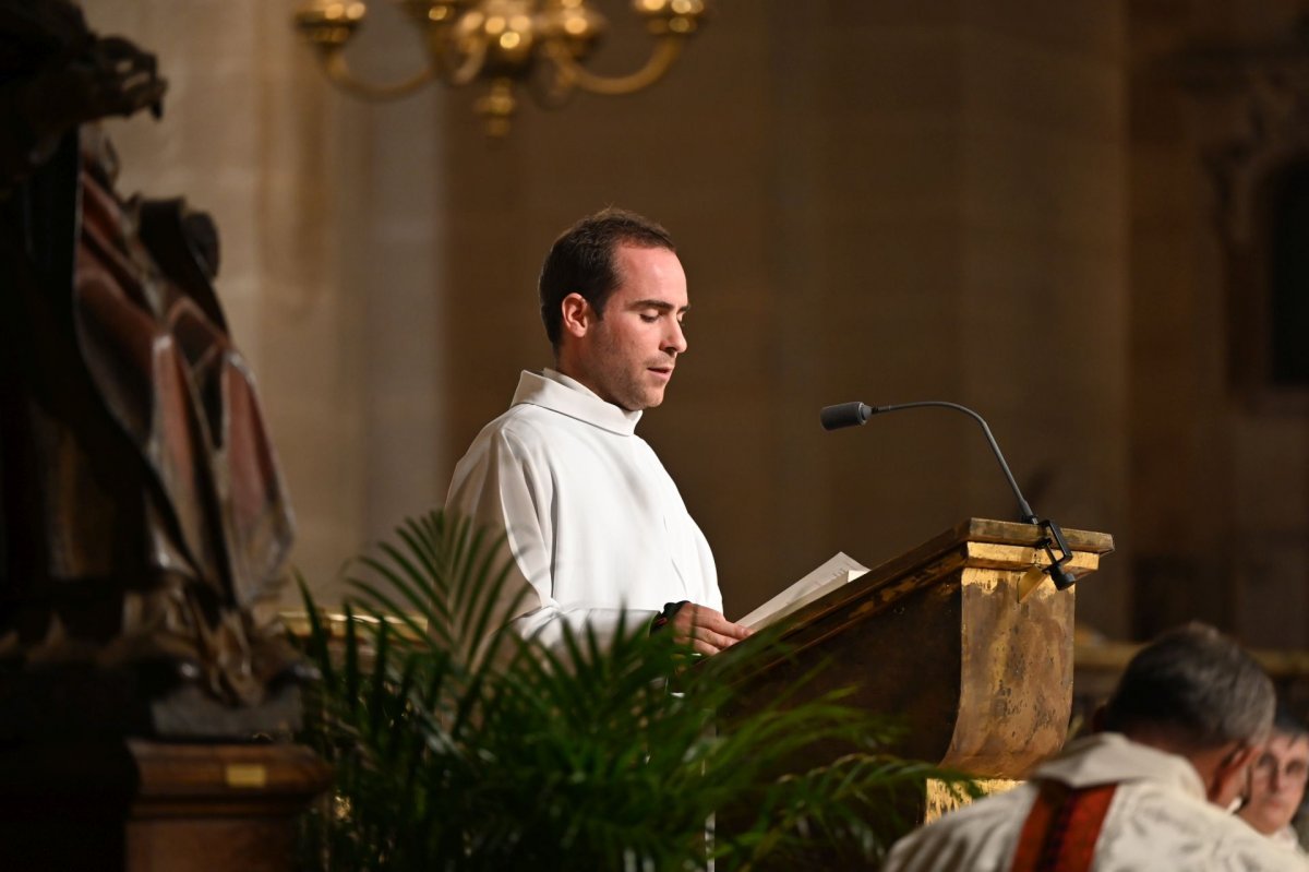
<path id="1" fill-rule="evenodd" d="M 291 872 L 295 818 L 330 780 L 288 744 L 9 744 L 0 868 Z"/>

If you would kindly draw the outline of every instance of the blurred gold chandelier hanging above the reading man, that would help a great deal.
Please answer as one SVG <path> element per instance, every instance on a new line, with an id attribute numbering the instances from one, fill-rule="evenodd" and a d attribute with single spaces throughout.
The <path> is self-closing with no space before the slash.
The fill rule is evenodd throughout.
<path id="1" fill-rule="evenodd" d="M 558 106 L 576 88 L 594 94 L 630 94 L 656 82 L 695 33 L 704 0 L 635 0 L 635 13 L 654 38 L 645 65 L 626 76 L 601 76 L 583 62 L 605 31 L 603 16 L 586 0 L 395 0 L 419 29 L 427 67 L 395 82 L 357 79 L 344 48 L 359 31 L 363 0 L 306 0 L 296 26 L 315 48 L 327 77 L 367 100 L 393 100 L 432 80 L 449 85 L 486 82 L 475 110 L 487 132 L 501 136 L 517 107 L 516 86 L 542 106 Z"/>

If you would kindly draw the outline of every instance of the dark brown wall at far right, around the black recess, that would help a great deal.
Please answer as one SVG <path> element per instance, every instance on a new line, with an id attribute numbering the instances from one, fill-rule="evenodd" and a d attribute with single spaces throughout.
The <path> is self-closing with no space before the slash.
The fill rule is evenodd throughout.
<path id="1" fill-rule="evenodd" d="M 1276 119 L 1257 134 L 1247 92 L 1183 88 L 1177 68 L 1200 47 L 1247 65 L 1278 56 L 1302 14 L 1292 0 L 1131 8 L 1139 635 L 1198 617 L 1254 645 L 1309 643 L 1309 391 L 1259 390 L 1238 377 L 1259 354 L 1247 327 L 1263 285 L 1229 268 L 1220 227 L 1230 209 L 1207 170 L 1233 145 L 1274 160 L 1309 154 L 1309 123 Z"/>

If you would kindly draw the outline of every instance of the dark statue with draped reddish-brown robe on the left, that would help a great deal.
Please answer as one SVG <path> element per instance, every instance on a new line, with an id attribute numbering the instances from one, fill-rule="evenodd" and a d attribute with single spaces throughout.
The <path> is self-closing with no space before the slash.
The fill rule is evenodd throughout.
<path id="1" fill-rule="evenodd" d="M 251 617 L 292 518 L 217 233 L 124 200 L 96 124 L 165 90 L 71 3 L 0 0 L 0 674 L 126 677 L 161 735 L 221 732 L 215 711 L 276 706 L 298 674 Z"/>

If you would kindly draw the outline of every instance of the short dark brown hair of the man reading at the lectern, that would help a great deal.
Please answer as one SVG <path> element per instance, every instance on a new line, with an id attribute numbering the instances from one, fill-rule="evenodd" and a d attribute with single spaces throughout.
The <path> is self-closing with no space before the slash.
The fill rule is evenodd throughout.
<path id="1" fill-rule="evenodd" d="M 538 289 L 541 319 L 556 351 L 563 321 L 560 304 L 569 293 L 580 293 L 597 316 L 605 316 L 605 302 L 620 279 L 614 257 L 619 245 L 677 250 L 662 227 L 636 212 L 613 207 L 588 215 L 550 246 L 541 266 Z"/>

